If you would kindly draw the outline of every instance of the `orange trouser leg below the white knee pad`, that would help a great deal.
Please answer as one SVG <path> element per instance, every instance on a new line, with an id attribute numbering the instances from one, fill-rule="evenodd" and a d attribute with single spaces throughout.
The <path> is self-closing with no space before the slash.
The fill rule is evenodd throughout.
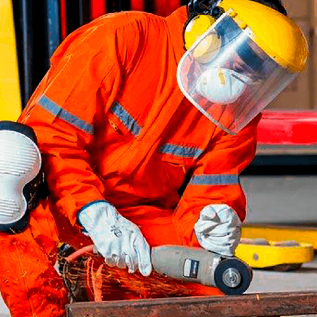
<path id="1" fill-rule="evenodd" d="M 65 315 L 68 292 L 53 267 L 57 235 L 46 211 L 33 210 L 21 233 L 0 233 L 0 290 L 12 317 Z"/>

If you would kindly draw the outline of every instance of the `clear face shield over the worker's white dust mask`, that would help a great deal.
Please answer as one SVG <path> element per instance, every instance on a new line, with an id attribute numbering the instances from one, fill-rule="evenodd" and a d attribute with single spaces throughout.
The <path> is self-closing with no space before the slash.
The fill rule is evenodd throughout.
<path id="1" fill-rule="evenodd" d="M 223 14 L 184 54 L 178 85 L 209 120 L 238 133 L 298 73 L 281 67 L 253 40 L 250 28 Z"/>

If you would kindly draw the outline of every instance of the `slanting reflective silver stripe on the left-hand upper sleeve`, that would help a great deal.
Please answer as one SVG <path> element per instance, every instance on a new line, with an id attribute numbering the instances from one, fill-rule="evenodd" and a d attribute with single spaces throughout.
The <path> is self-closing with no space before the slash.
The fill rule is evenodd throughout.
<path id="1" fill-rule="evenodd" d="M 94 134 L 94 126 L 92 124 L 76 117 L 74 114 L 63 109 L 62 107 L 57 105 L 53 100 L 50 100 L 48 97 L 43 95 L 37 103 L 43 109 L 51 113 L 53 116 L 59 117 L 61 120 L 66 121 L 67 123 L 75 126 L 78 129 L 81 129 L 82 131 L 90 135 Z"/>

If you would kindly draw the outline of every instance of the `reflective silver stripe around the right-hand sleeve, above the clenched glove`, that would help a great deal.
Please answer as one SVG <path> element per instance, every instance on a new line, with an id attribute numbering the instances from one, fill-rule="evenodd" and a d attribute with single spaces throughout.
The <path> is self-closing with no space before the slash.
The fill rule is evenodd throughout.
<path id="1" fill-rule="evenodd" d="M 200 174 L 194 175 L 189 185 L 238 185 L 239 176 L 230 174 Z"/>

